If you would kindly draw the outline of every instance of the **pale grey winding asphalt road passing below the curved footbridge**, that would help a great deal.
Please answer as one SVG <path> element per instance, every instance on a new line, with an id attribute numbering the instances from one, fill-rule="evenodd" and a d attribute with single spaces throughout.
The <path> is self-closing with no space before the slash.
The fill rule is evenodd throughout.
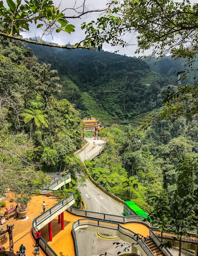
<path id="1" fill-rule="evenodd" d="M 84 159 L 93 158 L 97 155 L 104 145 L 103 140 L 88 139 L 88 145 L 85 150 L 81 151 L 78 155 Z M 93 147 L 95 146 L 95 147 Z M 114 215 L 123 215 L 123 205 L 114 201 L 112 198 L 100 191 L 88 179 L 86 180 L 85 187 L 79 187 L 81 196 L 85 201 L 85 209 L 91 212 L 109 213 Z M 101 238 L 96 232 L 77 230 L 77 244 L 79 256 L 100 255 L 105 252 L 111 255 L 117 255 L 117 252 L 123 250 L 115 248 L 113 242 L 124 243 L 120 238 Z M 129 249 L 129 252 L 131 250 Z"/>

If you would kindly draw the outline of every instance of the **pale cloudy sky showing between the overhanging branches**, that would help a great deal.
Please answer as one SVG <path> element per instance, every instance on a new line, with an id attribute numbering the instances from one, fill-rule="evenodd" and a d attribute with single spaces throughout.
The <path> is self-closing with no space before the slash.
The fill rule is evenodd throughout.
<path id="1" fill-rule="evenodd" d="M 81 6 L 82 2 L 83 0 L 76 0 L 76 5 Z M 108 2 L 107 0 L 86 0 L 85 3 L 89 10 L 98 10 L 98 9 L 106 8 L 107 2 Z M 54 0 L 54 3 L 56 4 L 56 6 L 58 6 L 60 3 L 60 0 Z M 75 3 L 75 0 L 70 0 L 70 1 L 62 0 L 61 6 L 59 7 L 59 9 L 62 11 L 65 8 L 73 8 L 74 3 Z M 72 13 L 73 12 L 70 9 L 66 11 L 67 16 L 71 15 Z M 99 17 L 99 14 L 95 13 L 95 14 L 89 14 L 85 17 L 82 17 L 81 19 L 68 19 L 68 21 L 76 27 L 74 33 L 71 33 L 71 35 L 69 35 L 66 32 L 53 33 L 53 39 L 51 35 L 48 35 L 48 36 L 44 36 L 43 40 L 48 42 L 58 43 L 60 45 L 65 45 L 68 42 L 70 42 L 70 44 L 75 44 L 80 40 L 84 39 L 85 37 L 83 30 L 81 30 L 80 28 L 81 27 L 80 24 L 84 21 L 96 20 L 98 17 Z M 39 31 L 38 29 L 34 29 L 32 27 L 29 33 L 23 33 L 22 35 L 23 37 L 29 38 L 29 37 L 34 37 L 35 33 L 36 33 L 36 36 L 41 36 L 42 31 L 41 30 Z M 130 42 L 132 44 L 136 44 L 135 37 L 133 39 L 132 35 L 130 35 Z M 114 52 L 115 50 L 118 50 L 118 49 L 119 49 L 119 52 L 118 52 L 119 54 L 126 54 L 127 56 L 135 56 L 135 55 L 138 56 L 137 54 L 135 54 L 136 46 L 129 46 L 123 49 L 122 47 L 111 47 L 108 44 L 103 45 L 103 50 L 105 51 Z"/>

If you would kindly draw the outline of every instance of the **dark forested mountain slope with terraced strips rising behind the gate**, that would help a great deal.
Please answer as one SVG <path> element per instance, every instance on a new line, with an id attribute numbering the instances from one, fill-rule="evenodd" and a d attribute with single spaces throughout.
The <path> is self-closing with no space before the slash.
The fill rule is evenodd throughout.
<path id="1" fill-rule="evenodd" d="M 169 84 L 143 60 L 105 51 L 69 51 L 29 45 L 40 62 L 57 69 L 62 97 L 76 105 L 82 117 L 98 116 L 105 124 L 127 122 L 158 108 Z M 84 95 L 87 93 L 87 96 Z M 85 97 L 86 96 L 86 97 Z M 96 102 L 91 104 L 90 102 Z"/>

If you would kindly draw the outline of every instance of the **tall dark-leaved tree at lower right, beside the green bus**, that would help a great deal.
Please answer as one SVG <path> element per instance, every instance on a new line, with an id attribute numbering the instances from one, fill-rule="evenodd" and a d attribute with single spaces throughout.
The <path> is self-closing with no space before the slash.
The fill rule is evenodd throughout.
<path id="1" fill-rule="evenodd" d="M 177 168 L 176 189 L 169 192 L 169 203 L 166 196 L 164 198 L 155 197 L 154 216 L 157 217 L 157 220 L 159 219 L 162 231 L 172 232 L 176 235 L 179 240 L 179 256 L 181 256 L 181 237 L 188 235 L 188 229 L 196 219 L 194 211 L 198 202 L 198 188 L 195 185 L 197 171 L 197 161 L 187 154 L 180 160 Z M 164 208 L 165 204 L 169 204 L 169 207 Z M 166 216 L 161 215 L 163 211 Z M 169 227 L 167 227 L 167 218 Z"/>

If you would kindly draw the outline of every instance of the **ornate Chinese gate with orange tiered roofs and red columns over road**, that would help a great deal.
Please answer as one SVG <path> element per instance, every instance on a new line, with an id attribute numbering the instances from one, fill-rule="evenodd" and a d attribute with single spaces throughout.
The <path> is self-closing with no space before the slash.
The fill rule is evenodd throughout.
<path id="1" fill-rule="evenodd" d="M 85 136 L 86 131 L 94 131 L 94 139 L 99 139 L 99 130 L 104 129 L 104 127 L 101 127 L 101 124 L 98 123 L 99 120 L 96 120 L 95 118 L 84 118 L 84 129 L 83 129 L 83 138 Z"/>

